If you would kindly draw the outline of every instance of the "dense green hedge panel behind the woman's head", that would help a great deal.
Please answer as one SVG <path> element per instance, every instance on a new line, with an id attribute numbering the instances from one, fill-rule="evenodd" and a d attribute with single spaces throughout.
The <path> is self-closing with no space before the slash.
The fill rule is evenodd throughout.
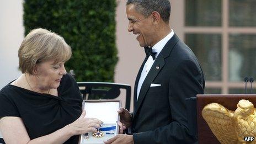
<path id="1" fill-rule="evenodd" d="M 23 6 L 25 35 L 45 28 L 72 47 L 66 69 L 77 81 L 114 81 L 116 0 L 26 0 Z"/>

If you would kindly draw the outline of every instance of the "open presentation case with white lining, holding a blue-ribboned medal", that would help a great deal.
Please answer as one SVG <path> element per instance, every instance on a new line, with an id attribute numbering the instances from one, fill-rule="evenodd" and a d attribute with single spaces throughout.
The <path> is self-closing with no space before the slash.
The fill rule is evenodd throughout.
<path id="1" fill-rule="evenodd" d="M 103 124 L 98 131 L 81 135 L 79 143 L 104 143 L 103 141 L 118 135 L 120 116 L 117 110 L 120 106 L 120 100 L 83 100 L 86 118 L 97 118 Z"/>

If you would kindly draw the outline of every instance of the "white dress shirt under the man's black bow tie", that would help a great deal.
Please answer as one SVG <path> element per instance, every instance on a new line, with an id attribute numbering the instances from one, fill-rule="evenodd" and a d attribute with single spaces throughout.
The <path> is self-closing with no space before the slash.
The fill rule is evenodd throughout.
<path id="1" fill-rule="evenodd" d="M 174 32 L 172 30 L 166 37 L 164 37 L 162 40 L 158 41 L 157 44 L 152 47 L 152 52 L 157 52 L 156 58 L 159 55 L 159 53 L 162 51 L 162 49 L 166 45 L 166 43 L 173 37 L 173 35 L 174 35 Z M 154 60 L 156 60 L 156 59 L 154 59 Z M 137 100 L 138 100 L 138 96 L 139 96 L 138 94 L 140 94 L 141 86 L 154 63 L 154 60 L 153 60 L 152 56 L 148 57 L 145 65 L 143 67 L 143 70 L 142 70 L 141 76 L 140 76 L 140 80 L 138 80 Z"/>

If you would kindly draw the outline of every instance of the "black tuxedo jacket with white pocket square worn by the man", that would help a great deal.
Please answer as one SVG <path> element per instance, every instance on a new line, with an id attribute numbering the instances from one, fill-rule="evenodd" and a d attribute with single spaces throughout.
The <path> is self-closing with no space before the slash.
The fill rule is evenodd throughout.
<path id="1" fill-rule="evenodd" d="M 137 84 L 147 57 L 137 74 L 132 133 L 135 143 L 195 143 L 188 134 L 185 98 L 203 94 L 205 81 L 200 64 L 178 36 L 163 47 L 142 84 Z M 151 83 L 161 84 L 150 87 Z"/>

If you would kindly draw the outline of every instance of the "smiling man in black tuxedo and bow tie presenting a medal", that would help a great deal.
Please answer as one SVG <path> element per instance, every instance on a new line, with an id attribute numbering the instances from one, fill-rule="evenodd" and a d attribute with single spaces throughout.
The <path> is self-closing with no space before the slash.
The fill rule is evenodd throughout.
<path id="1" fill-rule="evenodd" d="M 169 26 L 170 2 L 128 0 L 126 14 L 128 31 L 137 35 L 146 58 L 135 81 L 134 113 L 119 110 L 132 135 L 105 143 L 196 143 L 188 132 L 185 99 L 204 93 L 204 74 L 193 51 Z"/>

